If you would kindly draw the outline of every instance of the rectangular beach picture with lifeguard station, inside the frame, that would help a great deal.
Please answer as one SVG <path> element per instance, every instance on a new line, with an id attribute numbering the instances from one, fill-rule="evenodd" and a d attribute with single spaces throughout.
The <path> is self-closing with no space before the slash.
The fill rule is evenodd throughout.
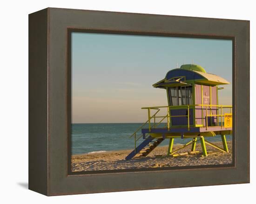
<path id="1" fill-rule="evenodd" d="M 71 171 L 233 164 L 232 40 L 71 33 Z"/>

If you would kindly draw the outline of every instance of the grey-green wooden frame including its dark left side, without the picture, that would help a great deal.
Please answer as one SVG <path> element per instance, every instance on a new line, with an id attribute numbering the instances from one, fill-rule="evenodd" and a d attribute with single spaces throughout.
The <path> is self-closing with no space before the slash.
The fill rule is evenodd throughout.
<path id="1" fill-rule="evenodd" d="M 70 32 L 233 41 L 233 164 L 70 170 Z M 47 196 L 249 183 L 249 21 L 46 8 L 29 14 L 29 189 Z"/>

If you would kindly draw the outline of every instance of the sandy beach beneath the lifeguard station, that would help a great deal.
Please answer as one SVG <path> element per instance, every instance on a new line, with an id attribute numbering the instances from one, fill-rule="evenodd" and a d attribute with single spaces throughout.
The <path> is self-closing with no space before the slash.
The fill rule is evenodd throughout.
<path id="1" fill-rule="evenodd" d="M 232 141 L 228 141 L 229 153 L 221 151 L 207 145 L 208 157 L 202 157 L 200 154 L 182 155 L 178 157 L 166 157 L 168 146 L 157 147 L 147 157 L 139 157 L 126 161 L 125 157 L 132 150 L 109 151 L 104 153 L 90 153 L 73 155 L 71 158 L 71 168 L 73 172 L 98 171 L 98 170 L 116 170 L 116 169 L 137 169 L 137 168 L 155 168 L 170 166 L 201 166 L 218 165 L 232 163 Z M 222 147 L 222 142 L 215 142 Z M 174 149 L 182 147 L 175 145 Z M 182 149 L 178 153 L 190 151 L 191 146 Z M 196 150 L 202 152 L 200 144 L 196 145 Z M 215 152 L 215 153 L 213 153 Z M 217 153 L 216 153 L 217 152 Z M 212 154 L 211 154 L 212 153 Z"/>

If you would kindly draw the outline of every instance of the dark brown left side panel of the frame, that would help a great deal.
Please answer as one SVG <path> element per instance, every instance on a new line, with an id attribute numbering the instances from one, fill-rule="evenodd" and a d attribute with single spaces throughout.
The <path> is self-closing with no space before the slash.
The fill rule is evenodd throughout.
<path id="1" fill-rule="evenodd" d="M 28 15 L 28 189 L 48 195 L 48 8 Z"/>

